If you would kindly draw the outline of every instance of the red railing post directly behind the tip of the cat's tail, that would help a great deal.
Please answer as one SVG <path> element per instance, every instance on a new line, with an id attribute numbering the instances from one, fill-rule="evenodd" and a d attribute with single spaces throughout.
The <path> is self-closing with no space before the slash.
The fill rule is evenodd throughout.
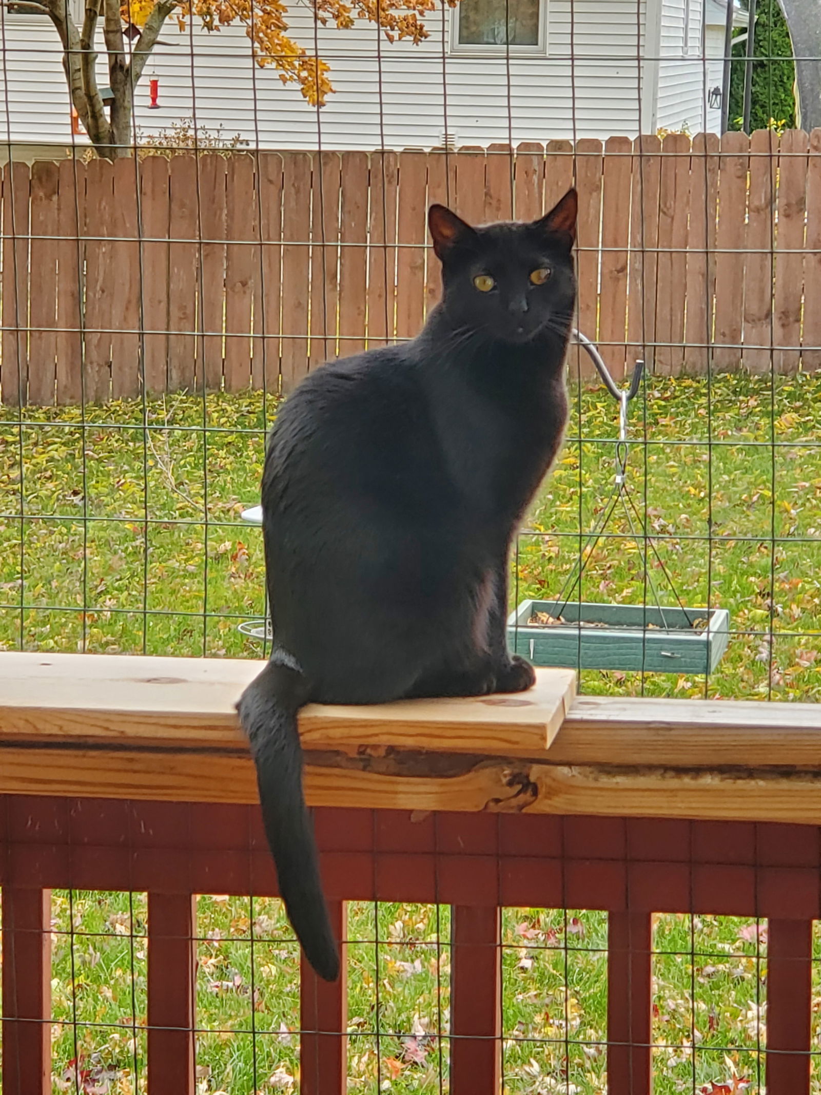
<path id="1" fill-rule="evenodd" d="M 347 904 L 328 901 L 331 926 L 340 943 L 338 981 L 328 984 L 300 964 L 300 1095 L 345 1095 L 348 1090 Z"/>

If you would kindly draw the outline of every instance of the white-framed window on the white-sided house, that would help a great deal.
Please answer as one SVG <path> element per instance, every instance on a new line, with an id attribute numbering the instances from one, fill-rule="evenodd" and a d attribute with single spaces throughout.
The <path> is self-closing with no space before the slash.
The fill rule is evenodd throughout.
<path id="1" fill-rule="evenodd" d="M 547 0 L 460 0 L 453 9 L 454 53 L 543 54 Z"/>

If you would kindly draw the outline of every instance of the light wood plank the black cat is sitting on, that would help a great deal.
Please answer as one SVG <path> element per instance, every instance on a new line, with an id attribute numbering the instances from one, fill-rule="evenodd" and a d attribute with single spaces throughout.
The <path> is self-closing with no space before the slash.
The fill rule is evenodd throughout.
<path id="1" fill-rule="evenodd" d="M 259 661 L 8 653 L 0 659 L 0 739 L 51 735 L 124 742 L 236 746 L 234 704 Z M 408 700 L 304 708 L 305 748 L 394 746 L 479 753 L 546 749 L 575 692 L 567 669 L 543 669 L 516 696 Z"/>

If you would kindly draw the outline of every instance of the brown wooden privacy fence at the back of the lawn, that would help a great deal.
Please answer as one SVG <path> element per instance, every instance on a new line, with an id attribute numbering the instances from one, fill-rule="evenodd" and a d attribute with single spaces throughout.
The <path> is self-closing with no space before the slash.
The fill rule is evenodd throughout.
<path id="1" fill-rule="evenodd" d="M 821 130 L 7 165 L 4 403 L 288 391 L 419 330 L 426 211 L 525 219 L 574 178 L 580 328 L 615 373 L 821 366 Z M 807 307 L 805 307 L 805 301 Z"/>

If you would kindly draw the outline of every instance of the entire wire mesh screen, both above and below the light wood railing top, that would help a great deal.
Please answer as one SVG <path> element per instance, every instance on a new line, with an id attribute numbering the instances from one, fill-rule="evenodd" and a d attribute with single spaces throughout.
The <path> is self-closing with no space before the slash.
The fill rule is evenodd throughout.
<path id="1" fill-rule="evenodd" d="M 322 110 L 261 51 L 256 0 L 224 5 L 247 36 L 180 9 L 119 91 L 112 55 L 144 61 L 146 39 L 99 32 L 99 90 L 136 102 L 109 162 L 51 16 L 0 9 L 0 644 L 263 656 L 239 626 L 265 612 L 241 515 L 279 401 L 418 332 L 431 201 L 523 219 L 573 184 L 576 324 L 618 385 L 645 373 L 625 410 L 571 347 L 511 644 L 555 661 L 569 631 L 588 692 L 818 699 L 821 129 L 779 117 L 775 0 L 753 4 L 770 37 L 747 65 L 728 46 L 748 12 L 712 0 L 419 11 L 410 45 L 379 2 L 347 28 L 286 10 L 303 88 L 331 66 Z M 752 117 L 774 125 L 726 131 L 756 73 Z M 4 809 L 7 1095 L 821 1091 L 814 829 L 321 816 L 347 940 L 325 989 L 244 812 Z"/>

